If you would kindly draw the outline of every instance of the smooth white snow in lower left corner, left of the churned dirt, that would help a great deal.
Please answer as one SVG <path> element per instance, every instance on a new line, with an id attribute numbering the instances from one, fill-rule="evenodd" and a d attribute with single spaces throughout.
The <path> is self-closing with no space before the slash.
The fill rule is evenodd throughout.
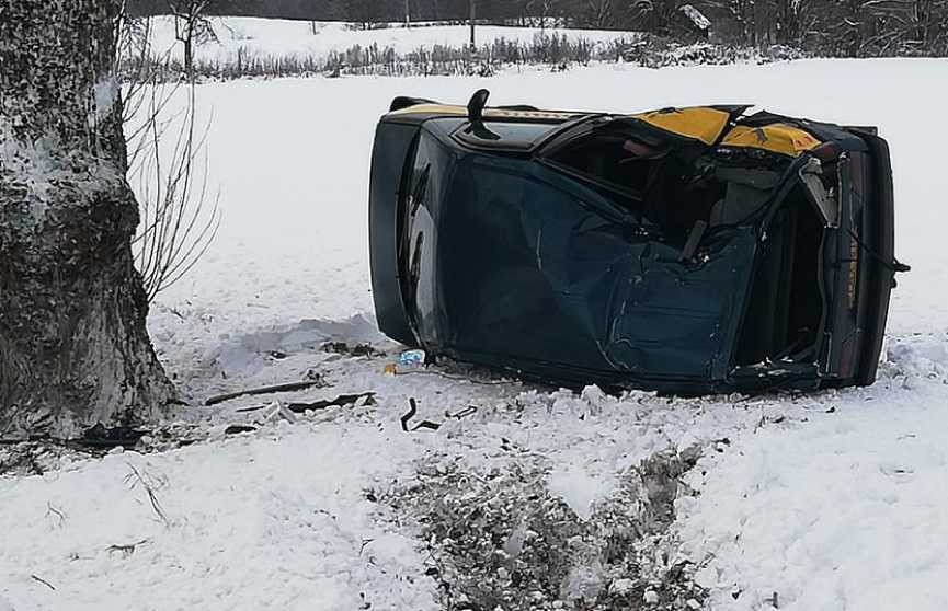
<path id="1" fill-rule="evenodd" d="M 287 425 L 0 480 L 0 597 L 18 611 L 436 609 L 432 592 L 412 585 L 424 579 L 414 542 L 366 498 L 410 469 L 391 461 L 412 452 L 392 430 Z"/>

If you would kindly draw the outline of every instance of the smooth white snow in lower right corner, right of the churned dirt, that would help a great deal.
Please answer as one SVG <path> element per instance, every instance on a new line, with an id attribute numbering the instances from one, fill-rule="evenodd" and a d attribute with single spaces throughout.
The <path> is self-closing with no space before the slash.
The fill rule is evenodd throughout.
<path id="1" fill-rule="evenodd" d="M 776 591 L 790 610 L 945 609 L 944 385 L 899 397 L 880 385 L 701 464 L 682 528 L 710 558 L 704 585 L 720 608 L 761 609 Z"/>

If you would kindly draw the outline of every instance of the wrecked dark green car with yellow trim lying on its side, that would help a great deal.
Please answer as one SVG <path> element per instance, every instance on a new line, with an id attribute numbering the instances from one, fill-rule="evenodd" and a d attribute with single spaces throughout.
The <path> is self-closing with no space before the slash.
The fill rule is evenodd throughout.
<path id="1" fill-rule="evenodd" d="M 379 327 L 431 357 L 670 393 L 867 385 L 895 272 L 875 128 L 399 97 L 369 196 Z"/>

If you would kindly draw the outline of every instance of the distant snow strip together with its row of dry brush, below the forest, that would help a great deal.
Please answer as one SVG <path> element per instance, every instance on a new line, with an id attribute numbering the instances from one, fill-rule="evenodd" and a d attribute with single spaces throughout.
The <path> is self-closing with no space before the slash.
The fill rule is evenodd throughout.
<path id="1" fill-rule="evenodd" d="M 625 61 L 659 68 L 800 56 L 785 47 L 761 51 L 709 44 L 679 45 L 638 32 L 496 25 L 477 27 L 477 53 L 472 55 L 470 30 L 465 25 L 424 24 L 409 28 L 391 24 L 355 30 L 343 23 L 255 18 L 212 18 L 209 22 L 215 38 L 206 37 L 196 46 L 193 70 L 198 77 L 213 79 L 483 76 L 516 66 L 561 70 L 592 61 Z M 152 70 L 173 79 L 184 71 L 174 20 L 158 16 L 150 24 Z"/>

